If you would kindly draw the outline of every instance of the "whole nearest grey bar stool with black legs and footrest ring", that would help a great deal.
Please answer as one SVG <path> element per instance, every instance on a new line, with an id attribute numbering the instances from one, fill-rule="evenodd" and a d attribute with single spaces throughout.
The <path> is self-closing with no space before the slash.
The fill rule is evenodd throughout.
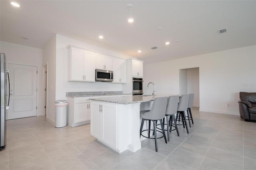
<path id="1" fill-rule="evenodd" d="M 151 129 L 146 129 L 146 130 L 142 130 L 143 125 L 144 125 L 144 121 L 153 121 L 154 122 L 154 138 L 150 138 L 147 136 L 144 136 L 145 138 L 150 138 L 150 139 L 155 139 L 155 146 L 156 146 L 156 152 L 158 151 L 158 147 L 157 147 L 157 139 L 164 137 L 165 142 L 167 143 L 166 140 L 166 136 L 165 136 L 165 132 L 164 132 L 164 124 L 162 119 L 165 116 L 166 113 L 166 106 L 167 106 L 167 97 L 157 97 L 154 99 L 153 105 L 150 109 L 150 111 L 146 110 L 146 111 L 140 111 L 140 117 L 142 118 L 141 121 L 141 125 L 140 125 L 140 135 L 144 136 L 142 134 L 142 132 L 144 131 L 149 131 L 148 132 L 148 136 L 150 136 L 150 130 Z M 161 127 L 162 127 L 162 132 L 159 130 L 156 130 L 156 122 L 160 121 Z M 161 132 L 163 133 L 163 136 L 161 137 L 157 137 L 156 132 Z"/>

